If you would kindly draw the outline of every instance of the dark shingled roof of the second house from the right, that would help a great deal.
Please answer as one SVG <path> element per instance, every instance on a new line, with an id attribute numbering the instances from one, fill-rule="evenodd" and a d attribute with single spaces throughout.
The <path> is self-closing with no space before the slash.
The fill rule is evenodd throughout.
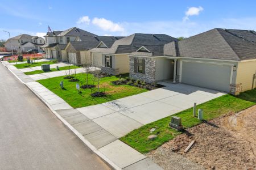
<path id="1" fill-rule="evenodd" d="M 165 34 L 135 33 L 115 41 L 112 47 L 109 49 L 94 48 L 92 50 L 96 52 L 111 54 L 132 53 L 141 48 L 141 46 L 145 46 L 148 50 L 150 50 L 149 48 L 156 50 L 159 49 L 159 46 L 163 46 L 168 42 L 176 40 L 177 39 L 174 37 Z"/>

